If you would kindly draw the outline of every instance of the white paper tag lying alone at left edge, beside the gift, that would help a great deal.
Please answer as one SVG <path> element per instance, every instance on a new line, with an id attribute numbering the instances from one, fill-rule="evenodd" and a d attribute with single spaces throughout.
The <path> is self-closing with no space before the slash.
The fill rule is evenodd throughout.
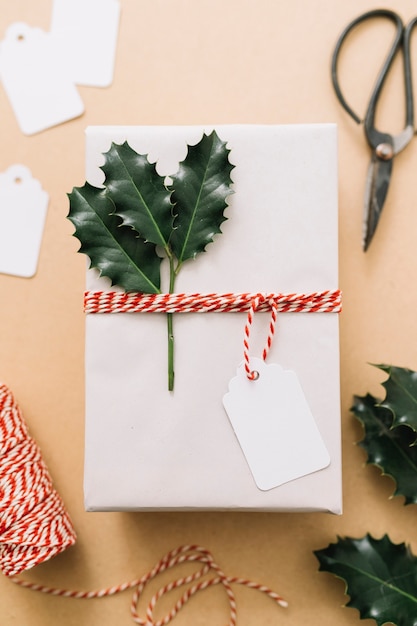
<path id="1" fill-rule="evenodd" d="M 24 165 L 0 173 L 0 272 L 36 273 L 49 196 Z"/>

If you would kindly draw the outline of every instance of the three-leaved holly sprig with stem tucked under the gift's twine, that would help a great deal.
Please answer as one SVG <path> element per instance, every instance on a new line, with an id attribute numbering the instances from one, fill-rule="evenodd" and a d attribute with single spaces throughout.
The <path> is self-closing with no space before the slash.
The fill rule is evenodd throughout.
<path id="1" fill-rule="evenodd" d="M 169 292 L 183 263 L 221 233 L 232 193 L 230 150 L 215 131 L 203 134 L 176 173 L 161 176 L 128 142 L 104 153 L 103 187 L 86 182 L 68 194 L 68 218 L 90 265 L 126 292 L 161 293 L 162 257 Z M 173 317 L 167 313 L 168 389 L 174 388 Z"/>

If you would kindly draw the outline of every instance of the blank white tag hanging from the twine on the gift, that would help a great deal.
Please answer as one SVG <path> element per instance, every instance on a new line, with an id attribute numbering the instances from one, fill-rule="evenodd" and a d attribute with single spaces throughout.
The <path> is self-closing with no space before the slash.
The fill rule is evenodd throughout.
<path id="1" fill-rule="evenodd" d="M 295 372 L 251 358 L 223 398 L 229 420 L 259 489 L 278 487 L 327 467 L 330 456 Z"/>

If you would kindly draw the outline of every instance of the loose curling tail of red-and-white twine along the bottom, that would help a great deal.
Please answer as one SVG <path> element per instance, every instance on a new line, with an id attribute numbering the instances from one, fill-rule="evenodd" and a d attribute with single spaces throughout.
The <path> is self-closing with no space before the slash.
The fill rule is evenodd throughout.
<path id="1" fill-rule="evenodd" d="M 202 568 L 188 576 L 178 578 L 177 580 L 161 587 L 152 596 L 147 606 L 144 617 L 140 617 L 138 613 L 138 604 L 146 585 L 156 576 L 162 574 L 162 572 L 183 563 L 200 563 L 202 564 Z M 210 571 L 214 572 L 214 576 L 212 578 L 203 578 L 204 576 L 209 574 Z M 168 624 L 171 620 L 174 619 L 177 613 L 179 613 L 179 611 L 185 606 L 185 604 L 193 595 L 195 595 L 199 591 L 203 591 L 204 589 L 208 589 L 209 587 L 213 587 L 214 585 L 219 584 L 223 586 L 227 595 L 227 599 L 229 601 L 230 616 L 227 626 L 236 626 L 237 624 L 237 609 L 235 594 L 232 589 L 233 584 L 244 585 L 249 589 L 255 589 L 269 596 L 279 606 L 288 606 L 287 602 L 280 595 L 278 595 L 277 593 L 275 593 L 275 591 L 272 591 L 272 589 L 269 589 L 265 585 L 260 585 L 259 583 L 255 583 L 251 580 L 247 580 L 244 578 L 234 578 L 226 576 L 226 574 L 220 569 L 217 563 L 215 563 L 211 553 L 208 550 L 197 545 L 186 545 L 181 546 L 176 550 L 172 550 L 171 552 L 168 552 L 168 554 L 166 554 L 155 565 L 155 567 L 153 567 L 150 572 L 148 572 L 141 578 L 122 583 L 121 585 L 117 585 L 114 587 L 109 587 L 107 589 L 100 589 L 96 591 L 71 591 L 36 585 L 34 583 L 29 583 L 19 579 L 13 579 L 13 581 L 21 587 L 26 587 L 28 589 L 31 589 L 32 591 L 40 591 L 42 593 L 48 593 L 54 596 L 63 596 L 66 598 L 76 598 L 81 600 L 104 598 L 108 596 L 113 596 L 128 589 L 134 589 L 130 611 L 135 624 L 140 624 L 141 626 L 165 626 L 165 624 Z M 158 600 L 160 600 L 164 595 L 168 594 L 169 592 L 179 589 L 180 587 L 184 587 L 185 585 L 188 585 L 188 588 L 175 603 L 171 611 L 169 611 L 169 613 L 167 613 L 165 617 L 156 620 L 154 617 L 154 611 Z"/>

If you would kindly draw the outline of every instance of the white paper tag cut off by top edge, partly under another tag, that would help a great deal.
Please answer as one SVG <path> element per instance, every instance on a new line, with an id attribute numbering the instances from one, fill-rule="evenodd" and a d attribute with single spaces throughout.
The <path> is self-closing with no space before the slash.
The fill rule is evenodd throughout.
<path id="1" fill-rule="evenodd" d="M 92 87 L 112 83 L 119 17 L 118 0 L 54 0 L 51 35 L 75 83 Z"/>

